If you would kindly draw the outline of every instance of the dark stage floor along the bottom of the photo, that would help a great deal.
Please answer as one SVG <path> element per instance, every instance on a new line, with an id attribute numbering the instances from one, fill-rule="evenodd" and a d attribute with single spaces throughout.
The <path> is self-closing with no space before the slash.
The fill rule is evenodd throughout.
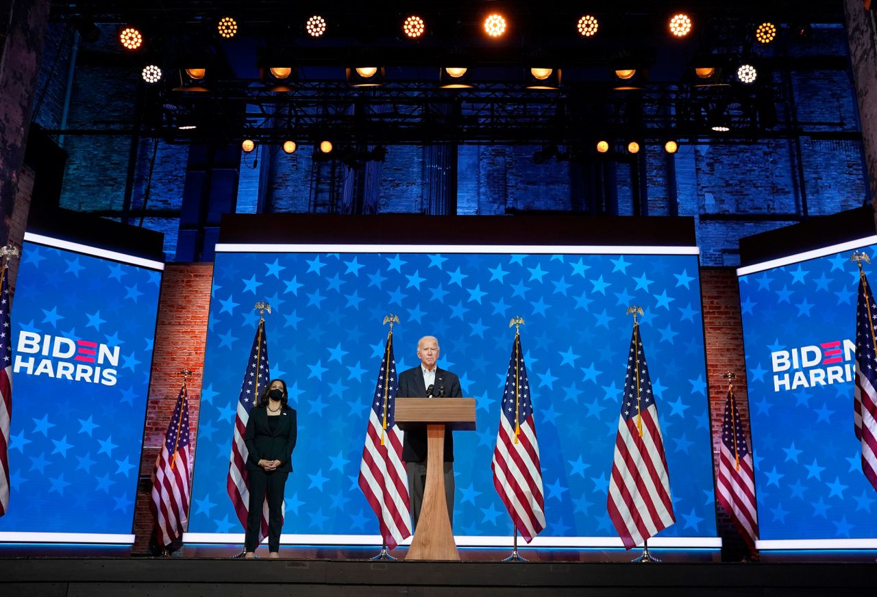
<path id="1" fill-rule="evenodd" d="M 0 595 L 688 595 L 872 594 L 873 551 L 783 552 L 758 563 L 720 563 L 717 552 L 654 551 L 660 564 L 612 561 L 623 551 L 525 550 L 528 563 L 502 563 L 505 551 L 463 550 L 464 561 L 372 562 L 373 548 L 284 548 L 280 560 L 204 557 L 225 548 L 188 547 L 185 558 L 131 558 L 127 550 L 5 545 Z M 84 557 L 84 551 L 89 556 Z M 61 551 L 68 551 L 67 556 Z M 41 555 L 40 555 L 41 554 Z M 79 554 L 79 557 L 77 557 Z M 304 558 L 304 557 L 307 558 Z M 787 561 L 774 561 L 782 556 Z M 582 561 L 582 558 L 588 558 Z M 681 558 L 685 558 L 681 561 Z M 494 561 L 488 561 L 494 560 Z M 536 561 L 539 560 L 539 561 Z M 833 560 L 833 561 L 832 561 Z"/>

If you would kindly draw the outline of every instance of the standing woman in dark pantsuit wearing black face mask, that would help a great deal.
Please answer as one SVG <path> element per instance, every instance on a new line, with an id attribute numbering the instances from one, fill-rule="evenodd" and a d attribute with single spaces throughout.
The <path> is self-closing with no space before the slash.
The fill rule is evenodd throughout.
<path id="1" fill-rule="evenodd" d="M 287 403 L 286 382 L 271 380 L 250 410 L 246 422 L 247 480 L 250 490 L 246 520 L 246 558 L 255 558 L 262 522 L 262 504 L 268 501 L 268 557 L 279 558 L 283 526 L 283 487 L 292 473 L 296 447 L 296 409 Z"/>

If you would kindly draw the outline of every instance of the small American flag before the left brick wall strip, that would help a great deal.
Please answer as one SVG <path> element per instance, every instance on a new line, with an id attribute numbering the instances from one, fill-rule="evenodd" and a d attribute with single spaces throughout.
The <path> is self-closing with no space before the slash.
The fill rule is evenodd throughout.
<path id="1" fill-rule="evenodd" d="M 153 471 L 149 509 L 155 518 L 155 536 L 162 546 L 174 543 L 189 526 L 190 451 L 189 400 L 183 382 Z"/>

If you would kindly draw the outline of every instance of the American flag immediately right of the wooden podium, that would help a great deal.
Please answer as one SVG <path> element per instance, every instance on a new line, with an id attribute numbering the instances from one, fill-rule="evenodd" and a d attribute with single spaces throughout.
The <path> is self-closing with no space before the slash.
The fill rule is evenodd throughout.
<path id="1" fill-rule="evenodd" d="M 511 347 L 509 373 L 505 376 L 502 408 L 490 468 L 496 493 L 509 511 L 517 532 L 530 543 L 545 529 L 545 494 L 530 383 L 517 331 Z"/>

